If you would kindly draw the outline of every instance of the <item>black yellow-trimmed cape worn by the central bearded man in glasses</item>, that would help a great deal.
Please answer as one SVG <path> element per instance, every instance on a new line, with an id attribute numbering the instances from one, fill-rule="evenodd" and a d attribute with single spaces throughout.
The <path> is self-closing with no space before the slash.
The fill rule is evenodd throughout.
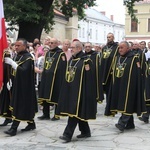
<path id="1" fill-rule="evenodd" d="M 91 59 L 81 51 L 69 61 L 60 91 L 57 115 L 81 120 L 96 119 L 96 86 Z"/>

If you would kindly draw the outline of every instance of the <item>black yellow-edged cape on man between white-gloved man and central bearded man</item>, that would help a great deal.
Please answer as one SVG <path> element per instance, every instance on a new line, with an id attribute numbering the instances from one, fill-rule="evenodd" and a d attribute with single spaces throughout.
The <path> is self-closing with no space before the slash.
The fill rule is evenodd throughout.
<path id="1" fill-rule="evenodd" d="M 66 72 L 66 55 L 58 47 L 47 52 L 39 90 L 39 104 L 43 101 L 57 104 Z"/>

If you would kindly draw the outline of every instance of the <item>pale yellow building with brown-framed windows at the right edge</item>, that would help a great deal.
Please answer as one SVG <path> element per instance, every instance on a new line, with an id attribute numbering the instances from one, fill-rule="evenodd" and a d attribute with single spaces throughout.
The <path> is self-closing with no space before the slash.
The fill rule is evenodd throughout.
<path id="1" fill-rule="evenodd" d="M 138 23 L 131 20 L 126 9 L 125 39 L 128 41 L 150 41 L 150 0 L 136 2 L 134 12 Z"/>

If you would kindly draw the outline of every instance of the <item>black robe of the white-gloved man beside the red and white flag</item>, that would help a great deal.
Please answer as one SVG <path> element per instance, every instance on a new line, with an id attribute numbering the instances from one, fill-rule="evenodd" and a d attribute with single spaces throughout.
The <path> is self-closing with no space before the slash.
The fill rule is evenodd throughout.
<path id="1" fill-rule="evenodd" d="M 16 71 L 12 69 L 12 75 L 14 75 L 11 99 L 12 116 L 18 121 L 33 121 L 37 112 L 34 60 L 25 50 L 17 54 L 15 61 L 18 67 Z"/>

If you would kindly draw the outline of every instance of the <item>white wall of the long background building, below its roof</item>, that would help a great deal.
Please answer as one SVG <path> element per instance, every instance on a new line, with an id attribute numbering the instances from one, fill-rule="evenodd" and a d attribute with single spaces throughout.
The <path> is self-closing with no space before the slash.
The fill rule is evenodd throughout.
<path id="1" fill-rule="evenodd" d="M 124 40 L 124 25 L 94 20 L 88 17 L 86 21 L 79 21 L 78 39 L 82 42 L 105 44 L 107 42 L 107 34 L 110 32 L 114 33 L 117 42 Z"/>

